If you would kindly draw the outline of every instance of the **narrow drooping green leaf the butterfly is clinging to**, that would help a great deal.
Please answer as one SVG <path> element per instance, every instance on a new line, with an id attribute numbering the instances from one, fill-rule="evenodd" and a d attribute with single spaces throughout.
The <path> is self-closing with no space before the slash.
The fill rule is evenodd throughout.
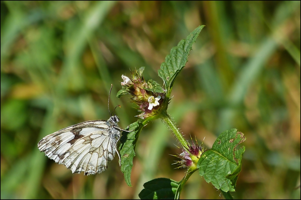
<path id="1" fill-rule="evenodd" d="M 121 157 L 121 171 L 124 174 L 124 180 L 126 184 L 132 187 L 131 184 L 131 171 L 133 167 L 133 158 L 135 157 L 135 146 L 138 139 L 138 135 L 143 128 L 141 120 L 129 125 L 127 130 L 132 132 L 122 132 L 120 138 L 119 152 Z"/>

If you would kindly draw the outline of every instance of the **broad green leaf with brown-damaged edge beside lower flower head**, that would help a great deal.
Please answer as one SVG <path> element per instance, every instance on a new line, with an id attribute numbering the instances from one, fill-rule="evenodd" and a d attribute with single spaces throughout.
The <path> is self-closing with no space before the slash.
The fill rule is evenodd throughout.
<path id="1" fill-rule="evenodd" d="M 224 192 L 234 192 L 241 171 L 241 159 L 245 147 L 237 148 L 246 137 L 237 129 L 224 131 L 214 142 L 212 149 L 205 151 L 197 163 L 200 176 Z"/>

